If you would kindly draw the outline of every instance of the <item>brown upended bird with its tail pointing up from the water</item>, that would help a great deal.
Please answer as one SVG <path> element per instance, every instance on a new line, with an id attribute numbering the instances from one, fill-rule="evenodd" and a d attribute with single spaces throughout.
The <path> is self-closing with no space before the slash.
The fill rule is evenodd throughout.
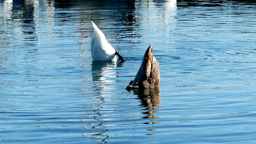
<path id="1" fill-rule="evenodd" d="M 133 81 L 129 83 L 126 90 L 157 88 L 160 83 L 159 63 L 153 56 L 152 44 L 146 50 L 140 69 Z"/>

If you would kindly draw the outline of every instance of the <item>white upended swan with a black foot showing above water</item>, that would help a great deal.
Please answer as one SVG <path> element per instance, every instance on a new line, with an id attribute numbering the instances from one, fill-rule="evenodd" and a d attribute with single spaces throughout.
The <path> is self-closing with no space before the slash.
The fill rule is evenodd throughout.
<path id="1" fill-rule="evenodd" d="M 91 21 L 92 22 L 92 21 Z M 106 40 L 103 32 L 92 22 L 94 33 L 92 34 L 91 50 L 92 59 L 95 61 L 114 61 L 116 55 L 121 61 L 126 60 L 118 51 L 116 51 Z"/>

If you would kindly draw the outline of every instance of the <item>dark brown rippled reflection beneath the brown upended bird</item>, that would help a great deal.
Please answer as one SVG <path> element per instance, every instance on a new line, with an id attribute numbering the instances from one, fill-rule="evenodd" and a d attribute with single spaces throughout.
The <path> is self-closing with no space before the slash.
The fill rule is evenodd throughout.
<path id="1" fill-rule="evenodd" d="M 147 116 L 143 118 L 159 118 L 159 116 L 154 116 L 154 114 L 158 111 L 161 103 L 161 94 L 159 88 L 150 88 L 145 90 L 134 90 L 134 94 L 138 95 L 138 98 L 141 100 L 141 106 L 146 107 L 144 110 L 148 110 L 147 112 L 143 112 Z"/>

